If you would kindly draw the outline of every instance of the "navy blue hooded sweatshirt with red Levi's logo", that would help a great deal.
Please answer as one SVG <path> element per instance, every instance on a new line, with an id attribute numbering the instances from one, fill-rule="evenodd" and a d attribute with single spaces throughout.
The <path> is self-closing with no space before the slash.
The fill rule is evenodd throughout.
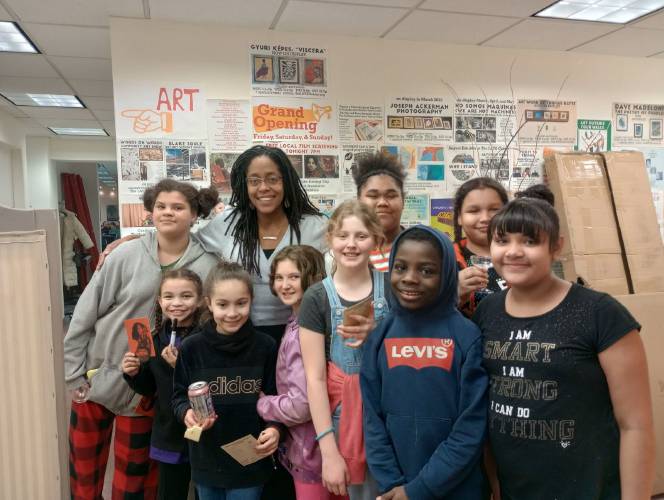
<path id="1" fill-rule="evenodd" d="M 436 300 L 393 308 L 367 340 L 360 373 L 367 462 L 381 493 L 404 485 L 411 500 L 481 498 L 480 457 L 488 377 L 480 330 L 457 309 L 457 267 L 449 238 L 427 226 L 443 261 Z"/>

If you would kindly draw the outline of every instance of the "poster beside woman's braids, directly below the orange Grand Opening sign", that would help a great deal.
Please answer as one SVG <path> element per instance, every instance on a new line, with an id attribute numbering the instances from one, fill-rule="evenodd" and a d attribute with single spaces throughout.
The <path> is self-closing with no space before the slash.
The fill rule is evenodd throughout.
<path id="1" fill-rule="evenodd" d="M 309 195 L 341 193 L 340 150 L 337 144 L 266 142 L 284 150 Z"/>

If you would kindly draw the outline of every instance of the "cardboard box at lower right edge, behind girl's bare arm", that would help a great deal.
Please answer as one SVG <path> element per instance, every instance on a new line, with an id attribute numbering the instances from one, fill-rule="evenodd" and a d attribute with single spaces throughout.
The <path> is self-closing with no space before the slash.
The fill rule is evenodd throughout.
<path id="1" fill-rule="evenodd" d="M 650 394 L 652 396 L 655 422 L 655 485 L 653 495 L 664 493 L 664 335 L 662 335 L 662 313 L 664 293 L 649 293 L 617 296 L 636 320 L 641 323 L 641 339 L 648 358 Z"/>

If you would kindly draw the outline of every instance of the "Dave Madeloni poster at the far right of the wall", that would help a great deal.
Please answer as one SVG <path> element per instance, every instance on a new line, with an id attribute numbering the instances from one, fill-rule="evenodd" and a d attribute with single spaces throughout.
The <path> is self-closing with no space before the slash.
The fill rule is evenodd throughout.
<path id="1" fill-rule="evenodd" d="M 664 145 L 664 104 L 613 103 L 614 146 Z"/>

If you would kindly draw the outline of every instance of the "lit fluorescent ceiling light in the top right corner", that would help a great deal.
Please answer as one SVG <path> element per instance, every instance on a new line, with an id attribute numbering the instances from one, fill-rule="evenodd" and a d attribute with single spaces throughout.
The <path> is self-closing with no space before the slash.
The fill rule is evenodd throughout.
<path id="1" fill-rule="evenodd" d="M 625 24 L 664 7 L 664 0 L 560 0 L 536 17 Z"/>

